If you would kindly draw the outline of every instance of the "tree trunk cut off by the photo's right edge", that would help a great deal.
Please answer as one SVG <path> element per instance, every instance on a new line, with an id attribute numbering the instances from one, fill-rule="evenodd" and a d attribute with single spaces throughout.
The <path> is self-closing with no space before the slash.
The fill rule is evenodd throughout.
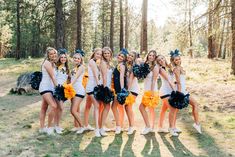
<path id="1" fill-rule="evenodd" d="M 235 75 L 235 1 L 231 0 L 232 6 L 232 74 Z"/>

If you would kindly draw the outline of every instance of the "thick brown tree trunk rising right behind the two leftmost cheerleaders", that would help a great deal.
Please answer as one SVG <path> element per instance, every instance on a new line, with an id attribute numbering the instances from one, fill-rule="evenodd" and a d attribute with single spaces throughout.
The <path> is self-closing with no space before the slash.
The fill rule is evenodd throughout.
<path id="1" fill-rule="evenodd" d="M 65 47 L 65 28 L 62 0 L 54 0 L 55 3 L 55 47 Z"/>

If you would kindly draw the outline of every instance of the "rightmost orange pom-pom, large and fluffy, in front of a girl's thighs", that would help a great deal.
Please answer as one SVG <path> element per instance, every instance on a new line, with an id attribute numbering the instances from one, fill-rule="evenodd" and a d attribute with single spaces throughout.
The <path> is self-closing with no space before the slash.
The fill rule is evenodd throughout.
<path id="1" fill-rule="evenodd" d="M 159 103 L 158 92 L 154 92 L 153 95 L 151 91 L 144 92 L 141 103 L 146 107 L 156 107 Z"/>

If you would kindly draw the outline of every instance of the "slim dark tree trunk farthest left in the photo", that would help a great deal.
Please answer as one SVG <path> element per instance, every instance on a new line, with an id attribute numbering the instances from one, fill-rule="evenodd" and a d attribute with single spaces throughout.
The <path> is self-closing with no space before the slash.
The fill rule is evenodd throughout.
<path id="1" fill-rule="evenodd" d="M 17 28 L 16 28 L 16 56 L 15 58 L 18 60 L 20 59 L 20 0 L 16 1 L 17 3 L 17 7 L 16 7 L 16 24 L 17 24 Z"/>

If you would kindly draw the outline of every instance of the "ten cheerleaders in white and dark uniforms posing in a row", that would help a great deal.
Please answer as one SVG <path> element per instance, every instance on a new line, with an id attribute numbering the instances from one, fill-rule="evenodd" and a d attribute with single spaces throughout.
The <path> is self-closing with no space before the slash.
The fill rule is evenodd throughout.
<path id="1" fill-rule="evenodd" d="M 60 134 L 63 129 L 59 126 L 63 103 L 66 101 L 58 100 L 53 97 L 55 88 L 69 84 L 74 88 L 76 95 L 71 98 L 71 114 L 74 117 L 74 128 L 77 134 L 84 131 L 94 131 L 96 137 L 107 136 L 108 128 L 105 123 L 109 110 L 112 109 L 116 129 L 115 134 L 120 134 L 123 130 L 124 114 L 126 113 L 129 128 L 127 134 L 134 133 L 134 112 L 133 105 L 136 97 L 140 94 L 138 79 L 133 72 L 133 66 L 137 64 L 148 64 L 149 72 L 144 78 L 144 93 L 139 110 L 144 119 L 145 128 L 141 134 L 145 135 L 154 132 L 155 126 L 155 108 L 162 100 L 162 108 L 158 123 L 158 132 L 169 132 L 172 136 L 178 136 L 181 132 L 176 128 L 177 108 L 172 107 L 168 99 L 172 91 L 179 91 L 187 94 L 185 87 L 185 71 L 181 66 L 181 58 L 178 53 L 171 54 L 171 63 L 168 64 L 165 57 L 157 55 L 155 50 L 147 53 L 143 61 L 135 51 L 127 52 L 121 50 L 117 57 L 117 65 L 113 66 L 113 52 L 109 47 L 94 49 L 87 65 L 84 65 L 84 52 L 77 50 L 73 55 L 73 68 L 69 69 L 67 54 L 63 50 L 54 48 L 46 49 L 46 58 L 42 63 L 42 80 L 39 86 L 39 92 L 42 96 L 42 107 L 40 112 L 40 130 L 41 133 L 48 135 L 54 132 Z M 88 81 L 84 83 L 84 74 L 88 72 Z M 158 87 L 158 78 L 161 78 L 161 87 Z M 105 88 L 114 92 L 114 100 L 111 103 L 99 101 L 94 96 L 94 88 L 97 85 L 103 85 Z M 124 104 L 120 104 L 117 95 L 122 91 L 128 91 L 129 95 Z M 80 115 L 80 105 L 86 96 L 86 105 L 84 111 L 84 121 Z M 136 102 L 138 103 L 138 102 Z M 94 125 L 91 127 L 88 123 L 89 111 L 94 106 Z M 192 114 L 195 123 L 193 127 L 201 133 L 201 126 L 198 118 L 198 103 L 190 96 L 189 104 L 192 106 Z M 48 112 L 48 125 L 45 126 L 46 112 Z M 169 129 L 163 128 L 165 112 L 169 109 Z"/>

